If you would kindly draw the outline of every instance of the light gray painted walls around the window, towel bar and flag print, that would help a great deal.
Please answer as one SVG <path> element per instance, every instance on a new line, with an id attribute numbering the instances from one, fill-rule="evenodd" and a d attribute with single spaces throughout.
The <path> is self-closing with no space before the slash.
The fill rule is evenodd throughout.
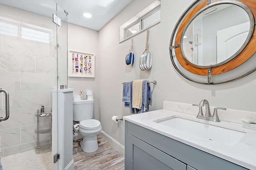
<path id="1" fill-rule="evenodd" d="M 77 25 L 68 26 L 69 49 L 95 53 L 95 78 L 69 78 L 69 88 L 74 95 L 80 90 L 94 90 L 94 118 L 99 119 L 102 130 L 124 145 L 124 122 L 119 125 L 111 117 L 130 115 L 122 102 L 122 82 L 137 79 L 157 80 L 152 87 L 150 111 L 163 108 L 163 101 L 199 104 L 207 99 L 210 106 L 255 111 L 256 72 L 228 84 L 202 85 L 183 78 L 172 66 L 169 54 L 171 33 L 182 13 L 193 0 L 161 0 L 161 23 L 150 28 L 149 50 L 153 61 L 150 70 L 141 71 L 139 57 L 145 49 L 146 31 L 133 37 L 133 66 L 125 64 L 130 39 L 119 43 L 119 27 L 130 20 L 154 0 L 133 0 L 124 10 L 108 22 L 100 31 Z M 83 41 L 89 39 L 88 41 Z"/>

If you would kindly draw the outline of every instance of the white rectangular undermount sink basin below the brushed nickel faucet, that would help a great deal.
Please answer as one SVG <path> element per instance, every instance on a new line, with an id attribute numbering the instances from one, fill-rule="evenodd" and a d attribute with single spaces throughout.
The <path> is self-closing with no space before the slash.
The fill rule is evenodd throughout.
<path id="1" fill-rule="evenodd" d="M 246 134 L 245 132 L 200 123 L 181 117 L 172 117 L 156 123 L 229 146 L 235 146 Z"/>

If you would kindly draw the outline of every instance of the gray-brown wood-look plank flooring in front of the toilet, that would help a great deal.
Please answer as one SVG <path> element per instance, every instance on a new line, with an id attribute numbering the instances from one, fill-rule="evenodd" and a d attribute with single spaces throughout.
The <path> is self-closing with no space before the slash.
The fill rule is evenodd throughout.
<path id="1" fill-rule="evenodd" d="M 124 156 L 97 137 L 99 149 L 92 153 L 84 152 L 80 141 L 73 141 L 74 170 L 124 170 Z"/>

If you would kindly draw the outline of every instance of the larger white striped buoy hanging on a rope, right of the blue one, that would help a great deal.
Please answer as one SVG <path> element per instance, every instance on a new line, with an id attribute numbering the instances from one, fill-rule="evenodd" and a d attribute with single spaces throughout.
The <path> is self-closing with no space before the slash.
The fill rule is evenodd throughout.
<path id="1" fill-rule="evenodd" d="M 147 38 L 146 38 L 146 46 L 145 51 L 140 55 L 140 69 L 142 71 L 148 70 L 152 66 L 152 55 L 148 50 L 148 36 L 149 36 L 149 29 L 147 30 Z"/>

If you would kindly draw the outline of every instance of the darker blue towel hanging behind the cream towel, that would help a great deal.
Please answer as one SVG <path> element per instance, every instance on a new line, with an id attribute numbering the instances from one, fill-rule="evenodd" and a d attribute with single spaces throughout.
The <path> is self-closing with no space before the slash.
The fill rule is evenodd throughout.
<path id="1" fill-rule="evenodd" d="M 130 113 L 138 114 L 148 111 L 148 104 L 152 102 L 151 87 L 148 80 L 142 82 L 142 109 L 132 108 L 132 82 L 130 84 Z"/>

